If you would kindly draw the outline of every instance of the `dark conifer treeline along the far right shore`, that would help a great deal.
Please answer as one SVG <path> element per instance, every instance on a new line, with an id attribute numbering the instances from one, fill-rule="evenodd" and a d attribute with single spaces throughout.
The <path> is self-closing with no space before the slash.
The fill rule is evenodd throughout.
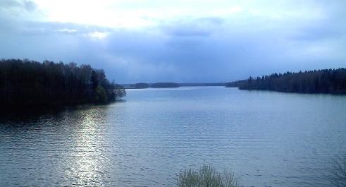
<path id="1" fill-rule="evenodd" d="M 274 90 L 279 92 L 346 94 L 346 69 L 273 73 L 270 76 L 227 83 L 240 90 Z"/>

